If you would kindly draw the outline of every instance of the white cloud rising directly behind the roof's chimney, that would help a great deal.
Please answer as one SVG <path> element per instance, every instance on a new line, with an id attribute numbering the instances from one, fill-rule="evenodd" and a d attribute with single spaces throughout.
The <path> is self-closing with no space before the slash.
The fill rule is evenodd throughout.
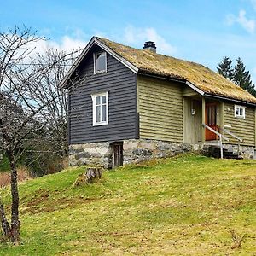
<path id="1" fill-rule="evenodd" d="M 136 45 L 139 48 L 143 48 L 144 42 L 149 40 L 154 41 L 157 47 L 157 52 L 159 53 L 173 55 L 177 52 L 177 48 L 168 44 L 166 39 L 161 37 L 160 34 L 152 27 L 125 27 L 125 34 L 123 37 L 125 44 Z"/>

